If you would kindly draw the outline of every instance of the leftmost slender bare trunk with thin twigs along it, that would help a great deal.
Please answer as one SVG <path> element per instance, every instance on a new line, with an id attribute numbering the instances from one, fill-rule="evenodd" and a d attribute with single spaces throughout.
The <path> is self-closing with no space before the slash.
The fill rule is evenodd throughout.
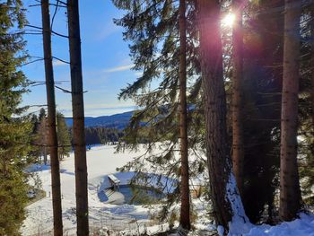
<path id="1" fill-rule="evenodd" d="M 51 192 L 52 205 L 54 215 L 54 235 L 63 235 L 62 224 L 62 205 L 61 205 L 61 185 L 60 185 L 60 166 L 57 156 L 57 127 L 56 127 L 56 101 L 55 101 L 55 82 L 52 67 L 51 55 L 51 30 L 50 30 L 50 15 L 49 1 L 41 0 L 42 13 L 42 33 L 45 58 L 45 74 L 46 74 L 46 89 L 48 103 L 48 145 L 50 153 L 51 166 Z M 46 129 L 45 129 L 46 133 Z M 46 136 L 46 134 L 45 134 Z M 46 147 L 45 147 L 46 154 Z"/>

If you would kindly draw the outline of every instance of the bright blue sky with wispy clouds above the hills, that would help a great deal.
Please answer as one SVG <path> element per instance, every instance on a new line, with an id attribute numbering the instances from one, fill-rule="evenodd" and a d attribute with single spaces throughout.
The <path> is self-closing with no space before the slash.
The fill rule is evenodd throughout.
<path id="1" fill-rule="evenodd" d="M 38 4 L 35 0 L 23 1 L 27 7 L 27 18 L 31 25 L 41 27 L 40 7 L 29 7 Z M 51 1 L 52 3 L 54 1 Z M 82 38 L 83 85 L 85 116 L 111 115 L 135 109 L 134 101 L 118 101 L 118 92 L 132 83 L 138 72 L 130 70 L 132 62 L 128 42 L 123 41 L 121 27 L 113 23 L 113 18 L 120 18 L 123 12 L 116 9 L 111 0 L 79 1 Z M 54 7 L 50 8 L 50 14 Z M 53 31 L 67 35 L 65 8 L 57 12 Z M 26 35 L 27 50 L 34 57 L 42 57 L 42 36 Z M 53 56 L 68 61 L 68 40 L 58 36 L 52 37 Z M 35 59 L 35 58 L 33 58 Z M 22 70 L 31 81 L 44 81 L 44 63 L 39 61 Z M 55 81 L 58 86 L 70 89 L 70 71 L 67 64 L 54 61 Z M 56 90 L 57 109 L 72 116 L 71 95 Z M 46 88 L 44 85 L 31 87 L 31 92 L 24 95 L 23 105 L 46 104 Z M 30 111 L 38 110 L 34 107 Z"/>

